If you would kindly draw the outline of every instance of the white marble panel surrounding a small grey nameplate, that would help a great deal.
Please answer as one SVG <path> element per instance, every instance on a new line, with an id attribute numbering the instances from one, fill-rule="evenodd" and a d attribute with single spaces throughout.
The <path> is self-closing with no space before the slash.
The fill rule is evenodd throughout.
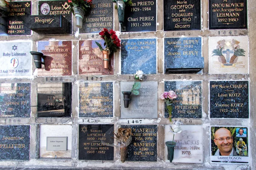
<path id="1" fill-rule="evenodd" d="M 47 150 L 47 137 L 54 136 L 55 141 L 54 143 L 48 141 L 48 145 L 52 145 L 52 147 L 48 148 Z M 64 150 L 58 145 L 60 144 L 61 139 L 60 137 L 65 136 L 67 137 L 67 146 L 65 146 Z M 56 141 L 58 140 L 58 142 Z M 41 158 L 71 158 L 71 147 L 72 147 L 72 125 L 41 125 L 40 126 L 40 149 L 39 149 L 39 156 Z M 60 149 L 62 148 L 62 149 Z M 59 150 L 58 150 L 59 149 Z M 58 150 L 58 151 L 55 151 Z"/>

